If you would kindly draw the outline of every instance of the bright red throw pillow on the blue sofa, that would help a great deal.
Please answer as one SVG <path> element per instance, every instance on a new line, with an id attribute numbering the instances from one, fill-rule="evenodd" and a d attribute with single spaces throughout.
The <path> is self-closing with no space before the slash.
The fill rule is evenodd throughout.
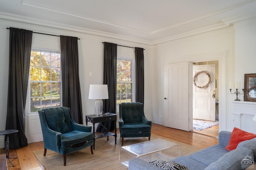
<path id="1" fill-rule="evenodd" d="M 236 149 L 237 145 L 246 140 L 250 140 L 256 137 L 256 134 L 254 133 L 248 133 L 246 131 L 242 131 L 241 129 L 238 129 L 234 127 L 230 140 L 228 142 L 228 146 L 225 147 L 228 151 Z"/>

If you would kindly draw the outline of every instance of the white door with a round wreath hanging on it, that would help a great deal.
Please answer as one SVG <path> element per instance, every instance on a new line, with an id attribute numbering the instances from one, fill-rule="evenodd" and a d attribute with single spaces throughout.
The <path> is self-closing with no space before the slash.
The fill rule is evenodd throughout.
<path id="1" fill-rule="evenodd" d="M 193 83 L 193 119 L 215 121 L 215 65 L 193 66 Z"/>

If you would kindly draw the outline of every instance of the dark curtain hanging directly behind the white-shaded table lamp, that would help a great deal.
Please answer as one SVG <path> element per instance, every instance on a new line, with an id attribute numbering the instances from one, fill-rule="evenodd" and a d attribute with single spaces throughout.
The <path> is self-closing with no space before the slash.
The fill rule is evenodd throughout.
<path id="1" fill-rule="evenodd" d="M 116 60 L 117 60 L 117 44 L 104 42 L 104 72 L 103 84 L 108 84 L 108 99 L 103 100 L 103 113 L 116 113 Z M 108 125 L 106 124 L 108 123 Z M 114 130 L 114 121 L 109 121 L 102 127 L 98 125 L 98 132 L 106 132 Z"/>

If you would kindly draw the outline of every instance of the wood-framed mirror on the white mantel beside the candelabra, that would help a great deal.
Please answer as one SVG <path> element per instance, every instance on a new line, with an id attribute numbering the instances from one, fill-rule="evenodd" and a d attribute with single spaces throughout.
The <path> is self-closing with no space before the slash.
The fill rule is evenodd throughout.
<path id="1" fill-rule="evenodd" d="M 244 74 L 244 101 L 256 102 L 256 74 Z"/>

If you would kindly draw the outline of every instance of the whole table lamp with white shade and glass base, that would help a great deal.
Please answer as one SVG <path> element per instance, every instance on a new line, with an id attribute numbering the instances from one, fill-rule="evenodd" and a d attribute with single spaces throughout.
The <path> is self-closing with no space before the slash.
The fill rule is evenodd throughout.
<path id="1" fill-rule="evenodd" d="M 95 114 L 102 115 L 103 101 L 108 99 L 108 85 L 107 84 L 90 84 L 89 99 L 95 100 Z"/>

